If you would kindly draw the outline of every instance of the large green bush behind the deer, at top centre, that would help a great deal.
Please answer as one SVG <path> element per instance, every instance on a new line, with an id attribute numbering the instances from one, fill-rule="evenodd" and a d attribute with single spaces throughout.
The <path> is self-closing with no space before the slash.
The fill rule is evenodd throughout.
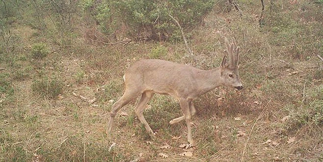
<path id="1" fill-rule="evenodd" d="M 122 23 L 127 23 L 128 33 L 137 39 L 165 40 L 181 39 L 179 28 L 169 15 L 183 28 L 193 27 L 202 23 L 203 17 L 213 8 L 214 0 L 104 0 L 97 4 L 84 0 L 82 6 L 110 34 Z"/>

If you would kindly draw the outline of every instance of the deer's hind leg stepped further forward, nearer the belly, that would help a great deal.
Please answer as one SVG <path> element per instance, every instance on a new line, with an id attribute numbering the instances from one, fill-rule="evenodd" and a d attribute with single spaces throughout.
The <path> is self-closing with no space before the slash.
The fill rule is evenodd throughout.
<path id="1" fill-rule="evenodd" d="M 152 91 L 146 91 L 141 94 L 141 98 L 137 105 L 135 106 L 135 114 L 137 115 L 138 119 L 140 120 L 140 123 L 144 125 L 146 131 L 149 133 L 151 137 L 155 137 L 155 134 L 153 130 L 148 125 L 145 117 L 143 116 L 143 111 L 145 109 L 146 104 L 149 102 L 149 100 L 154 96 L 154 92 Z"/>

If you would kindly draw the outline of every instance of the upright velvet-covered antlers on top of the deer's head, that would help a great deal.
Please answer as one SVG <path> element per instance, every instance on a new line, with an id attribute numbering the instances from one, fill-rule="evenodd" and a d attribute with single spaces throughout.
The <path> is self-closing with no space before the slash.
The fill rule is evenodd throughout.
<path id="1" fill-rule="evenodd" d="M 228 67 L 231 69 L 235 69 L 238 67 L 238 63 L 239 63 L 240 47 L 237 47 L 236 41 L 234 39 L 231 44 L 229 44 L 229 41 L 226 37 L 224 38 L 224 41 L 227 46 L 227 50 L 225 50 L 225 52 L 228 54 L 228 59 L 229 59 Z"/>

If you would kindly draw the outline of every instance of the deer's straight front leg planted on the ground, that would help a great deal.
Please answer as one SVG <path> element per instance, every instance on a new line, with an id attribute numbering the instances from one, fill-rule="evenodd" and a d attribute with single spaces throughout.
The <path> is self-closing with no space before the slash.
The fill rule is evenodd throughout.
<path id="1" fill-rule="evenodd" d="M 190 110 L 189 110 L 189 103 L 186 99 L 180 99 L 180 106 L 181 106 L 181 109 L 184 113 L 184 118 L 185 118 L 185 121 L 186 121 L 186 125 L 188 127 L 188 143 L 195 146 L 195 142 L 193 140 L 193 137 L 192 137 L 192 123 L 191 123 L 191 120 L 190 120 Z"/>

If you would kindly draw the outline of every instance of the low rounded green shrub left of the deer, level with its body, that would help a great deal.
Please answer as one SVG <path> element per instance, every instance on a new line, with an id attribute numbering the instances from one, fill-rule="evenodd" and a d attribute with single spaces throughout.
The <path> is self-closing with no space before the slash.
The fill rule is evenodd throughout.
<path id="1" fill-rule="evenodd" d="M 63 92 L 63 82 L 57 78 L 42 78 L 34 80 L 31 84 L 33 92 L 49 98 L 55 98 Z"/>

